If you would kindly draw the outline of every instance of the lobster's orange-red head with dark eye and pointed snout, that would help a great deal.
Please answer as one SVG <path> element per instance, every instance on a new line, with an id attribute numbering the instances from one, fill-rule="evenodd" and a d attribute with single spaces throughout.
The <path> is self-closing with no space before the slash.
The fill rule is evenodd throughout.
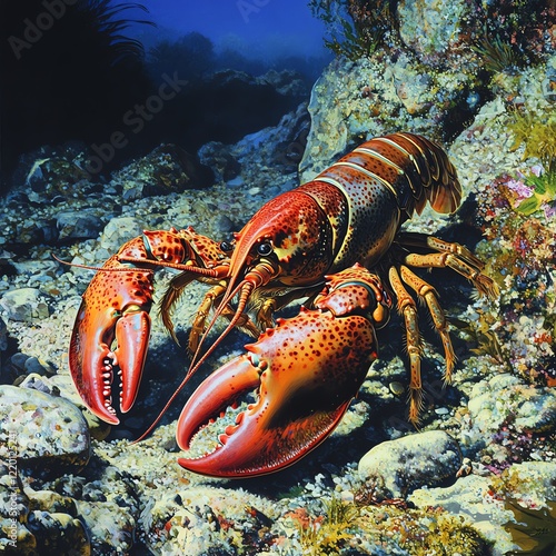
<path id="1" fill-rule="evenodd" d="M 254 291 L 267 285 L 278 289 L 317 286 L 334 260 L 334 232 L 322 207 L 302 191 L 285 192 L 265 203 L 235 235 L 228 286 L 219 306 L 202 335 L 193 356 L 191 376 L 219 341 L 239 322 Z M 222 249 L 226 249 L 222 244 Z M 234 316 L 219 339 L 202 355 L 200 346 L 222 311 L 238 296 Z M 181 388 L 181 387 L 180 387 Z"/>

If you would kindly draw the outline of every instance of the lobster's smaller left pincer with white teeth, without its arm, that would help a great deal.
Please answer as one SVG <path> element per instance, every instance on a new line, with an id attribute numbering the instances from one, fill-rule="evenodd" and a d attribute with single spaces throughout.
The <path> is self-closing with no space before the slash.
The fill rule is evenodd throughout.
<path id="1" fill-rule="evenodd" d="M 112 406 L 115 367 L 121 378 L 119 408 L 126 413 L 137 397 L 147 355 L 152 285 L 151 275 L 121 268 L 109 271 L 115 266 L 119 265 L 110 259 L 107 271 L 99 271 L 83 294 L 69 366 L 86 406 L 102 420 L 118 425 Z"/>

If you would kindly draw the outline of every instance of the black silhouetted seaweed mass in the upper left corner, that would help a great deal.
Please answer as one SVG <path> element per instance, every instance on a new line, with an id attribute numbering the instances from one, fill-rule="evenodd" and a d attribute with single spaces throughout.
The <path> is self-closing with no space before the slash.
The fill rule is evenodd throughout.
<path id="1" fill-rule="evenodd" d="M 126 33 L 136 23 L 152 27 L 126 17 L 131 10 L 147 13 L 142 4 L 53 2 L 63 14 L 54 18 L 50 3 L 2 2 L 0 120 L 7 175 L 22 152 L 43 145 L 103 143 L 129 108 L 155 92 L 142 64 L 143 47 Z M 40 18 L 52 24 L 39 23 L 39 29 Z M 37 30 L 32 40 L 27 40 L 26 26 Z M 117 153 L 123 158 L 129 150 Z"/>

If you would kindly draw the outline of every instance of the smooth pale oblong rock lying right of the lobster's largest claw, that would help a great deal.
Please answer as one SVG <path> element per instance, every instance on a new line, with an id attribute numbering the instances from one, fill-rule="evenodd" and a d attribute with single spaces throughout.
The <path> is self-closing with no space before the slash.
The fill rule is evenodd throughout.
<path id="1" fill-rule="evenodd" d="M 375 487 L 379 500 L 405 498 L 416 488 L 455 479 L 461 461 L 457 441 L 430 430 L 375 446 L 359 461 L 359 476 Z"/>

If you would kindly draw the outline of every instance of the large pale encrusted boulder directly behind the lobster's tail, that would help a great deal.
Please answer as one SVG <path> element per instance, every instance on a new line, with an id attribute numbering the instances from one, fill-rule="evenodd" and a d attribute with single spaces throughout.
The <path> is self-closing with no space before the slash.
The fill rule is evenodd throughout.
<path id="1" fill-rule="evenodd" d="M 444 122 L 454 116 L 454 107 L 461 110 L 466 102 L 464 91 L 477 87 L 474 72 L 464 69 L 437 72 L 404 52 L 335 60 L 312 88 L 301 181 L 312 179 L 361 138 L 404 130 L 441 141 Z"/>

